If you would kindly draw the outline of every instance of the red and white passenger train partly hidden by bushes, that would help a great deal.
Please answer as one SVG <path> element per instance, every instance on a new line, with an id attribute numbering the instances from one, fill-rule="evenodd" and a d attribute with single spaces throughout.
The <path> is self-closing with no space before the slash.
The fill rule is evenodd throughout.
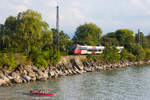
<path id="1" fill-rule="evenodd" d="M 100 54 L 103 53 L 105 46 L 82 46 L 82 45 L 74 45 L 72 47 L 73 54 Z M 123 50 L 123 46 L 116 47 L 120 53 Z"/>

